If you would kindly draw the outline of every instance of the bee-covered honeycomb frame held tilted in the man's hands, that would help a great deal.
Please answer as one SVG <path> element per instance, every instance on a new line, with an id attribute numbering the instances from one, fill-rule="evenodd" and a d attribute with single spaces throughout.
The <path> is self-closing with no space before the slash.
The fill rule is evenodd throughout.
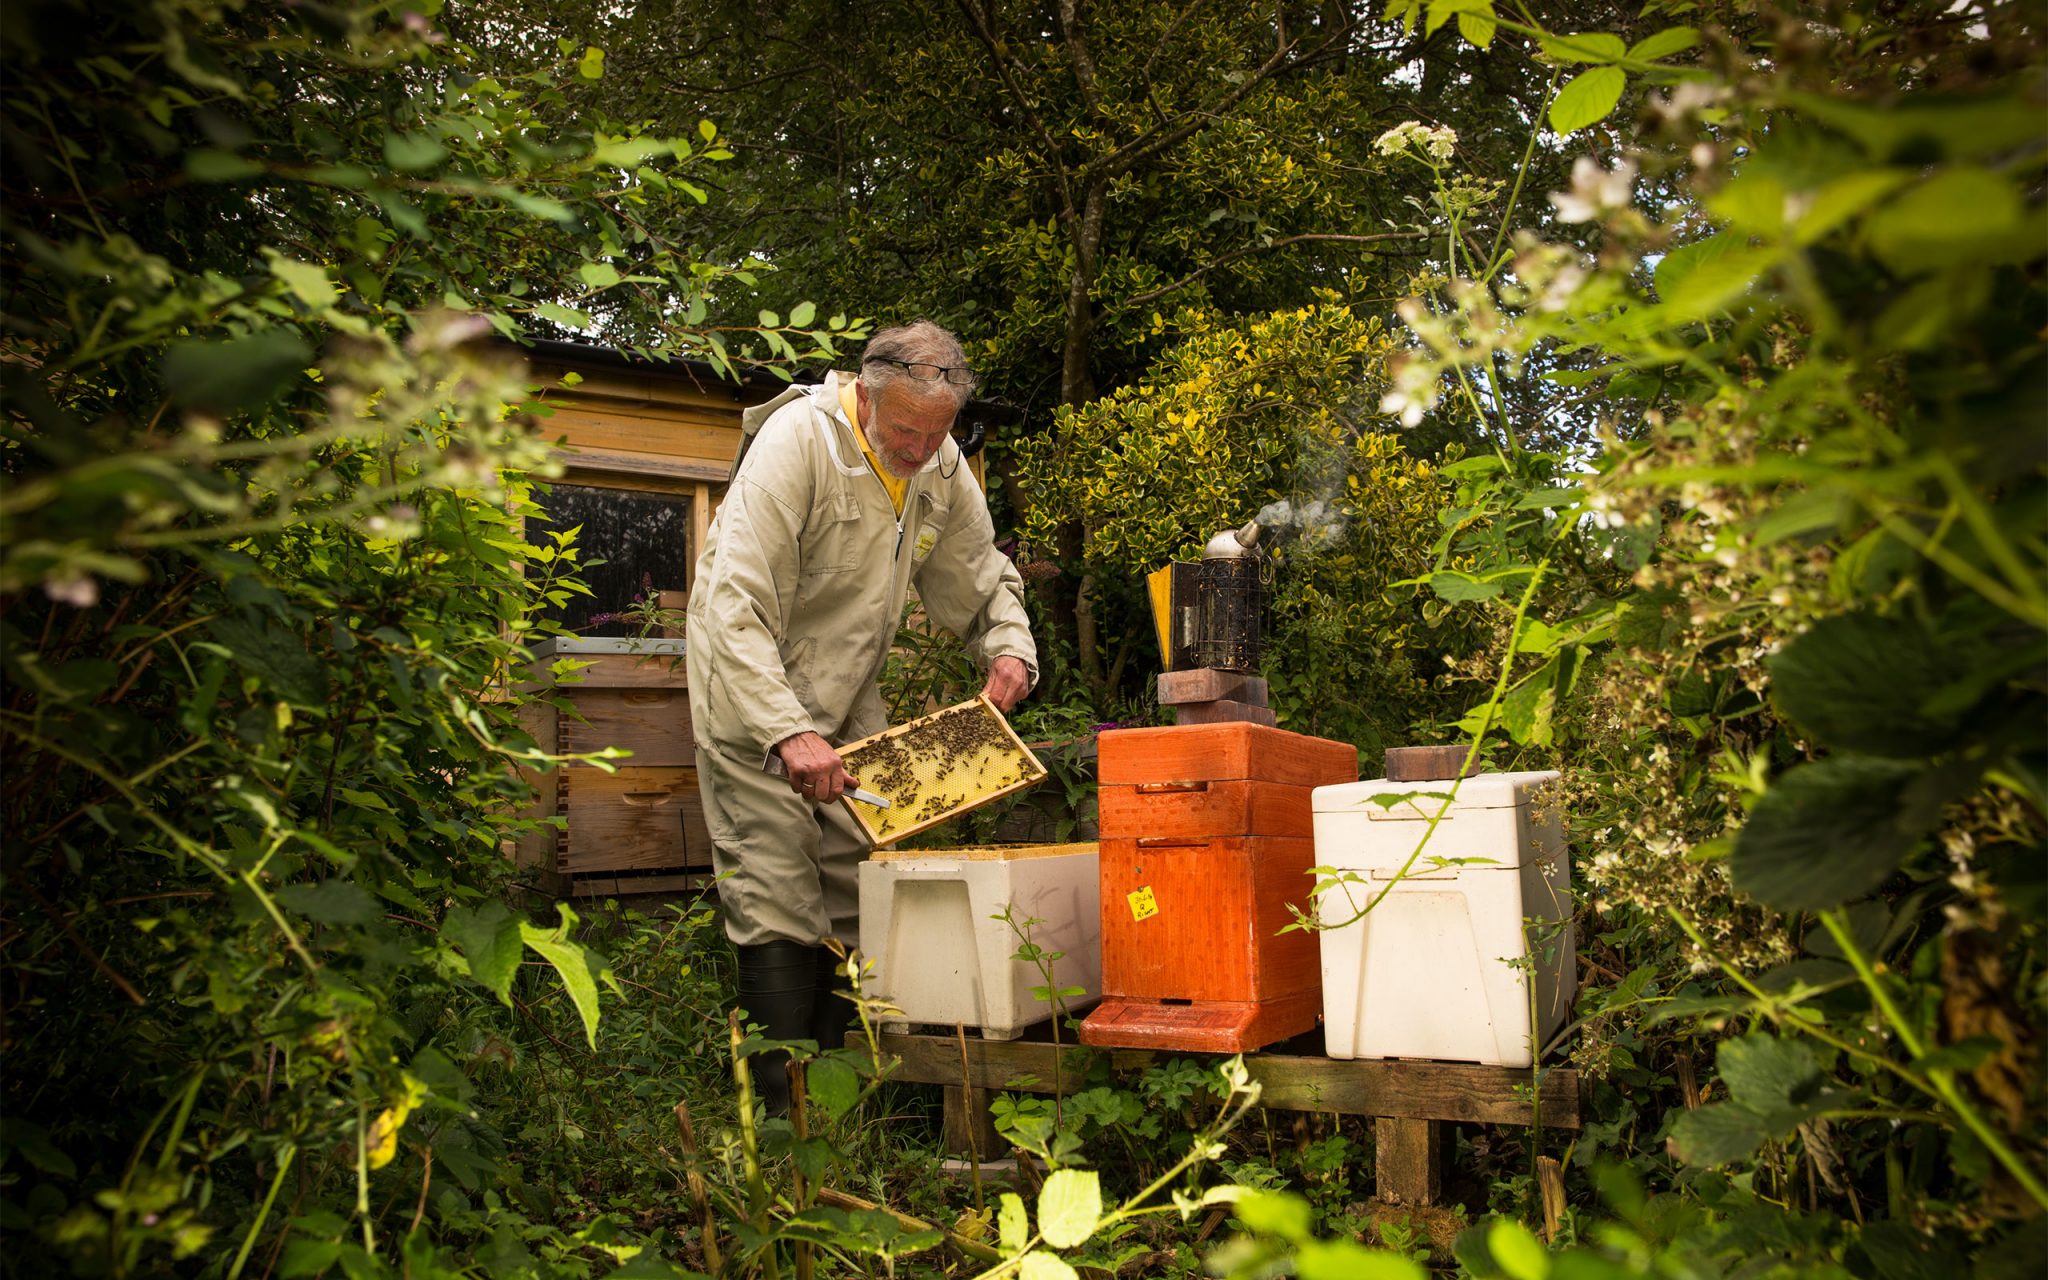
<path id="1" fill-rule="evenodd" d="M 864 737 L 840 752 L 889 809 L 848 801 L 874 844 L 895 844 L 1044 778 L 1044 766 L 987 698 Z"/>

